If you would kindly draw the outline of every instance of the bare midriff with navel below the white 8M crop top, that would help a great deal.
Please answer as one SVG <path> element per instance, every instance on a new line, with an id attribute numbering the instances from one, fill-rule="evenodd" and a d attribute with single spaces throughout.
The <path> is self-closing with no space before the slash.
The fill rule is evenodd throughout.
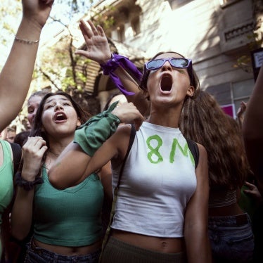
<path id="1" fill-rule="evenodd" d="M 179 253 L 186 250 L 184 238 L 157 238 L 155 236 L 145 236 L 117 229 L 111 230 L 111 236 L 130 245 L 136 245 L 139 248 L 155 250 L 162 253 Z"/>

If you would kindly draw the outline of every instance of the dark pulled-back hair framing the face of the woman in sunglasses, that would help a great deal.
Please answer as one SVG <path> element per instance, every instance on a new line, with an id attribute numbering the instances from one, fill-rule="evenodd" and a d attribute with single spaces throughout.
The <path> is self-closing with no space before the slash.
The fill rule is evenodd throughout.
<path id="1" fill-rule="evenodd" d="M 155 56 L 153 56 L 153 58 L 150 58 L 150 60 L 153 60 L 155 58 L 157 58 L 158 56 L 165 54 L 165 53 L 175 53 L 179 56 L 181 56 L 182 58 L 185 58 L 184 56 L 182 56 L 181 54 L 174 52 L 174 51 L 167 51 L 167 52 L 159 52 L 157 53 Z M 199 83 L 199 79 L 198 79 L 198 75 L 196 75 L 195 70 L 193 70 L 193 65 L 191 65 L 191 67 L 187 68 L 187 72 L 190 78 L 190 84 L 194 87 L 195 92 L 193 94 L 193 96 L 191 98 L 195 98 L 196 96 L 198 96 L 198 92 L 200 89 L 200 83 Z M 141 89 L 143 92 L 147 91 L 147 82 L 148 82 L 148 77 L 150 74 L 150 70 L 146 69 L 146 66 L 144 65 L 143 68 L 143 75 L 141 76 L 141 82 L 139 84 L 139 89 Z"/>

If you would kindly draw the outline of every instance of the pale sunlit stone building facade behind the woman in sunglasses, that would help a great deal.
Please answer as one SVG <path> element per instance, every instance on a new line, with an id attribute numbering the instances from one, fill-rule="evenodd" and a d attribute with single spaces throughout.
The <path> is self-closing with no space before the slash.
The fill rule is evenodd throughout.
<path id="1" fill-rule="evenodd" d="M 111 15 L 115 21 L 105 31 L 118 53 L 141 62 L 141 58 L 147 60 L 158 51 L 177 51 L 191 58 L 201 89 L 213 94 L 235 117 L 240 102 L 248 101 L 255 83 L 250 61 L 243 68 L 235 65 L 240 57 L 251 57 L 256 40 L 260 47 L 260 2 L 105 0 L 94 8 L 113 7 L 104 11 L 105 17 Z M 111 85 L 101 73 L 97 77 L 94 90 L 105 101 L 110 93 L 107 86 Z"/>

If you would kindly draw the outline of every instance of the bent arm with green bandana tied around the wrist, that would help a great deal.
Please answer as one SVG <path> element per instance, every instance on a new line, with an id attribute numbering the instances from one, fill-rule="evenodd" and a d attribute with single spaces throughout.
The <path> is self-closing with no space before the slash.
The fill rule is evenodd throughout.
<path id="1" fill-rule="evenodd" d="M 110 106 L 109 110 L 114 106 Z M 118 157 L 122 160 L 127 151 L 131 128 L 118 125 L 120 122 L 136 122 L 135 126 L 139 129 L 142 120 L 143 116 L 132 103 L 124 103 L 112 112 L 105 111 L 92 117 L 77 129 L 75 142 L 63 150 L 49 170 L 51 184 L 56 188 L 77 185 L 111 159 Z"/>

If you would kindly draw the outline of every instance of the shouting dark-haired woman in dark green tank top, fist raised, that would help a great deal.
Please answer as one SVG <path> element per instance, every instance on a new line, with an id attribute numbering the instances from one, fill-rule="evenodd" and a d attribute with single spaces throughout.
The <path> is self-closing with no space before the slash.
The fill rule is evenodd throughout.
<path id="1" fill-rule="evenodd" d="M 103 186 L 96 173 L 75 186 L 53 188 L 47 172 L 89 114 L 65 92 L 44 96 L 23 146 L 23 169 L 15 178 L 13 236 L 27 245 L 25 262 L 98 262 L 103 235 Z M 70 161 L 70 160 L 69 160 Z"/>

